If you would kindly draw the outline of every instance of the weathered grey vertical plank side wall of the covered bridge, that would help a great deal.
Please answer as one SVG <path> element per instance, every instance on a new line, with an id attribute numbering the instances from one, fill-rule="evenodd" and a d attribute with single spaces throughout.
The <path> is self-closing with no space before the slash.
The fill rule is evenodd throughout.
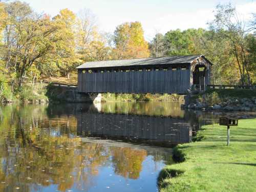
<path id="1" fill-rule="evenodd" d="M 78 90 L 84 93 L 184 94 L 189 87 L 189 69 L 78 73 Z"/>

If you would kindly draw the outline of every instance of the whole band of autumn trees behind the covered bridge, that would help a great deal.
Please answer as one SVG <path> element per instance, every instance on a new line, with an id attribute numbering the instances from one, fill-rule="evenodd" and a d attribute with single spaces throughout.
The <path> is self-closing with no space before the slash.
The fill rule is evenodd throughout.
<path id="1" fill-rule="evenodd" d="M 51 17 L 12 1 L 0 2 L 0 13 L 1 101 L 14 98 L 28 82 L 31 91 L 36 81 L 45 79 L 75 82 L 70 76 L 81 63 L 109 59 L 203 54 L 214 63 L 211 83 L 256 82 L 256 15 L 242 20 L 230 4 L 216 7 L 207 30 L 170 30 L 150 42 L 140 22 L 120 24 L 114 33 L 101 32 L 88 9 L 62 9 Z"/>

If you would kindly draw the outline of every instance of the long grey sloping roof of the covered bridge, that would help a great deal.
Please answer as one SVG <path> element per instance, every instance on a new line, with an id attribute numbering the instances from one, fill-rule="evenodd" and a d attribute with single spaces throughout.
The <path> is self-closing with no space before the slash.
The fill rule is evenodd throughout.
<path id="1" fill-rule="evenodd" d="M 185 55 L 173 57 L 157 57 L 157 58 L 141 58 L 141 59 L 122 59 L 122 60 L 105 60 L 85 62 L 77 69 L 91 68 L 113 68 L 113 67 L 129 67 L 129 66 L 152 66 L 152 65 L 168 65 L 168 64 L 185 64 L 191 63 L 198 57 L 203 55 Z"/>

